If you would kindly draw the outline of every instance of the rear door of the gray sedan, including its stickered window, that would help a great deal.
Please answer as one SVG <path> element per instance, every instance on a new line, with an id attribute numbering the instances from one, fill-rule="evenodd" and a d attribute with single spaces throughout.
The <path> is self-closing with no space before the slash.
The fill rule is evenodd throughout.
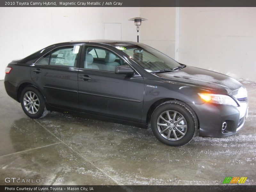
<path id="1" fill-rule="evenodd" d="M 78 110 L 77 74 L 82 45 L 53 49 L 36 61 L 30 75 L 54 107 Z"/>

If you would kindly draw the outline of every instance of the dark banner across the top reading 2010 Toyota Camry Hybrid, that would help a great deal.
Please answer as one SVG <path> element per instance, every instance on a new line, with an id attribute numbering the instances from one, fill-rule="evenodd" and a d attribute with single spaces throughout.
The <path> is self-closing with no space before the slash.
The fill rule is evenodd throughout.
<path id="1" fill-rule="evenodd" d="M 256 0 L 4 0 L 0 7 L 256 7 Z"/>

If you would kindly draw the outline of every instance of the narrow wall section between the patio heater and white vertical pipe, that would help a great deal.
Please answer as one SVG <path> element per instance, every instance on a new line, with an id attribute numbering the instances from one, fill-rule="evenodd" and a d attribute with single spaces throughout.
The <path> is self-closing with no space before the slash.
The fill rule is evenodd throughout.
<path id="1" fill-rule="evenodd" d="M 140 42 L 174 58 L 175 7 L 141 7 L 140 17 L 148 19 L 140 26 Z"/>

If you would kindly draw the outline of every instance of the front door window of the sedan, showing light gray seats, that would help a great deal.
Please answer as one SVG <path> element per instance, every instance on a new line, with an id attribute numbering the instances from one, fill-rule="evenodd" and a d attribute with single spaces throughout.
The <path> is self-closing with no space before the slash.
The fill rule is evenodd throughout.
<path id="1" fill-rule="evenodd" d="M 99 47 L 87 47 L 84 55 L 84 68 L 114 72 L 116 66 L 125 65 L 115 53 Z"/>

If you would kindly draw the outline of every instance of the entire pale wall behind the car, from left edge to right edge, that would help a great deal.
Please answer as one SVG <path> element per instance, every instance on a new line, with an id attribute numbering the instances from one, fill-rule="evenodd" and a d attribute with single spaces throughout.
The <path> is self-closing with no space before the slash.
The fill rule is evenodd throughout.
<path id="1" fill-rule="evenodd" d="M 178 60 L 237 79 L 256 81 L 256 8 L 180 7 L 0 8 L 0 79 L 13 59 L 50 44 L 103 39 L 104 23 L 121 23 L 122 40 L 137 41 L 128 19 L 144 17 L 140 42 L 172 58 L 179 31 Z M 67 16 L 67 17 L 64 17 Z M 177 35 L 177 34 L 176 34 Z"/>

